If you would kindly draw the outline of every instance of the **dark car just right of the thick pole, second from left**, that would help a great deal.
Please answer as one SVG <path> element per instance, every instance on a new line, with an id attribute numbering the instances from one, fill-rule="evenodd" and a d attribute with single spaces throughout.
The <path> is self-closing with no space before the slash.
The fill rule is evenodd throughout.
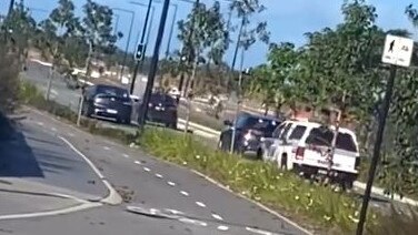
<path id="1" fill-rule="evenodd" d="M 143 112 L 143 103 L 139 113 Z M 177 101 L 163 92 L 152 93 L 148 103 L 146 121 L 177 129 Z"/>

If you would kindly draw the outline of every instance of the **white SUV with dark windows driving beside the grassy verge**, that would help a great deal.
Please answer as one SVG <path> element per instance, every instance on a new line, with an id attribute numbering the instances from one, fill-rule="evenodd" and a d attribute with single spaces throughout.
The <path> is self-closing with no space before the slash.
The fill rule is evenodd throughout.
<path id="1" fill-rule="evenodd" d="M 277 129 L 278 139 L 265 150 L 263 159 L 306 176 L 327 174 L 334 132 L 335 127 L 327 129 L 315 122 L 286 121 Z M 350 188 L 359 166 L 356 134 L 340 127 L 329 176 Z"/>

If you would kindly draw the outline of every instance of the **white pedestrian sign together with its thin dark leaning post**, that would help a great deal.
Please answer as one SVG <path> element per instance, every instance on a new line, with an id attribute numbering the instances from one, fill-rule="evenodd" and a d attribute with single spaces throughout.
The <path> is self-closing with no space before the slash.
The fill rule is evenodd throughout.
<path id="1" fill-rule="evenodd" d="M 369 175 L 367 180 L 365 196 L 362 197 L 361 211 L 360 211 L 360 218 L 357 224 L 357 235 L 362 235 L 366 216 L 367 216 L 367 207 L 370 201 L 370 193 L 371 187 L 375 180 L 376 168 L 378 161 L 380 159 L 380 146 L 384 139 L 386 119 L 389 113 L 390 108 L 390 100 L 394 93 L 394 84 L 395 84 L 395 76 L 397 67 L 409 67 L 410 60 L 412 57 L 412 49 L 414 49 L 414 41 L 411 39 L 406 39 L 401 37 L 390 35 L 386 37 L 385 42 L 385 51 L 381 58 L 384 63 L 390 64 L 390 75 L 389 81 L 386 86 L 386 94 L 385 100 L 382 103 L 382 110 L 379 116 L 379 126 L 376 135 L 376 142 L 374 147 L 374 155 L 371 159 L 371 164 L 369 168 Z"/>

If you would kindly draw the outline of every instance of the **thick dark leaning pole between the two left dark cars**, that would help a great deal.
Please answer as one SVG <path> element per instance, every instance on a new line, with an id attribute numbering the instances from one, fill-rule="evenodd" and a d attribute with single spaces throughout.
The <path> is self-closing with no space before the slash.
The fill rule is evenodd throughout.
<path id="1" fill-rule="evenodd" d="M 155 80 L 156 74 L 157 74 L 158 60 L 159 60 L 162 38 L 163 38 L 163 34 L 165 34 L 166 20 L 167 20 L 169 7 L 170 7 L 170 0 L 165 0 L 165 2 L 162 4 L 162 10 L 161 10 L 160 25 L 158 28 L 156 47 L 153 49 L 153 55 L 152 55 L 152 60 L 151 60 L 150 71 L 149 71 L 149 74 L 148 74 L 147 89 L 146 89 L 146 93 L 143 95 L 143 101 L 142 101 L 143 111 L 140 113 L 140 116 L 139 116 L 139 120 L 138 120 L 138 123 L 139 123 L 139 125 L 141 126 L 142 130 L 143 130 L 143 126 L 145 126 L 145 121 L 146 121 L 146 116 L 147 116 L 147 112 L 148 112 L 148 103 L 149 103 L 149 99 L 150 99 L 151 92 L 152 92 L 153 80 Z"/>

